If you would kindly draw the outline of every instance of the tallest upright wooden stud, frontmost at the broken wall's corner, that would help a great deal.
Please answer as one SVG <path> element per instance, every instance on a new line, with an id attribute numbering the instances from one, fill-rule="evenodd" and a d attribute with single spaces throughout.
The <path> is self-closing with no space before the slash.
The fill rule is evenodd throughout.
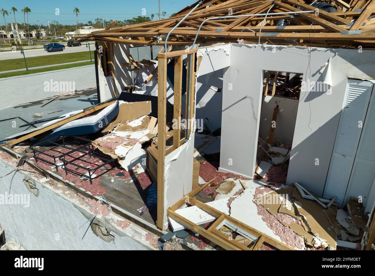
<path id="1" fill-rule="evenodd" d="M 159 57 L 158 94 L 157 94 L 157 220 L 156 226 L 164 230 L 164 158 L 165 158 L 165 127 L 166 127 L 166 65 L 167 59 Z"/>

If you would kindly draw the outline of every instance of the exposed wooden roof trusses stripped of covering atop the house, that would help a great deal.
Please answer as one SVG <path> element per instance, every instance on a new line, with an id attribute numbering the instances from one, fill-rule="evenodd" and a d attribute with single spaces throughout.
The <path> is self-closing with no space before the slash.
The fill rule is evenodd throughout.
<path id="1" fill-rule="evenodd" d="M 264 20 L 265 16 L 210 20 L 201 27 L 197 43 L 236 42 L 237 39 L 243 39 L 244 43 L 258 43 L 261 30 L 261 43 L 269 39 L 281 45 L 323 47 L 375 45 L 375 0 L 319 0 L 318 2 L 323 1 L 335 7 L 337 12 L 315 8 L 310 5 L 313 0 L 204 0 L 202 5 L 171 33 L 168 44 L 192 45 L 199 26 L 207 18 L 265 14 L 272 7 L 269 13 L 314 12 L 299 15 L 268 15 L 266 20 Z M 164 45 L 169 31 L 198 2 L 170 18 L 110 30 L 107 28 L 76 37 L 134 45 Z M 279 20 L 284 20 L 284 23 Z M 160 42 L 160 38 L 157 40 L 157 37 L 161 37 L 163 41 Z"/>

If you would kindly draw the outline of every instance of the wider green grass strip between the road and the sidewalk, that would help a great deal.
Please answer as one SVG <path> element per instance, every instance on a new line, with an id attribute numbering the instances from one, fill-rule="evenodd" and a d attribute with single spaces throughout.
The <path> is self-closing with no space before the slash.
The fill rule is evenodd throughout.
<path id="1" fill-rule="evenodd" d="M 86 46 L 82 45 L 80 47 L 86 47 Z M 31 68 L 31 67 L 37 67 L 37 66 L 60 64 L 60 63 L 90 59 L 89 51 L 66 53 L 66 54 L 52 54 L 52 55 L 48 55 L 48 54 L 49 53 L 47 53 L 47 55 L 45 56 L 38 56 L 38 57 L 26 57 L 27 67 Z M 92 51 L 91 57 L 94 60 L 94 51 Z M 0 64 L 1 64 L 0 72 L 25 68 L 25 62 L 24 62 L 23 57 L 21 57 L 20 59 L 0 60 Z"/>

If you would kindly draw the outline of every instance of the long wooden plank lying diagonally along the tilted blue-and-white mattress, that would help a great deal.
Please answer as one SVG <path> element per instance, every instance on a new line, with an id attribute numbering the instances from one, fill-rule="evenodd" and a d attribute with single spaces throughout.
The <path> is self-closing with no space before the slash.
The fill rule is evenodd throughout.
<path id="1" fill-rule="evenodd" d="M 104 107 L 110 106 L 111 104 L 115 103 L 116 101 L 117 101 L 117 99 L 113 100 L 113 101 L 108 101 L 108 102 L 105 102 L 105 103 L 97 104 L 96 106 L 93 106 L 93 107 L 89 107 L 86 110 L 84 110 L 83 112 L 80 112 L 80 113 L 78 113 L 76 115 L 70 116 L 70 117 L 68 117 L 66 119 L 63 119 L 61 121 L 55 122 L 52 125 L 47 125 L 46 127 L 43 127 L 43 128 L 41 128 L 39 130 L 35 130 L 35 131 L 31 132 L 31 133 L 25 134 L 24 136 L 21 136 L 21 137 L 15 139 L 15 140 L 10 141 L 10 142 L 1 144 L 0 146 L 1 147 L 3 147 L 3 146 L 13 146 L 13 145 L 15 145 L 17 143 L 23 142 L 23 141 L 25 141 L 27 139 L 30 139 L 30 138 L 32 138 L 34 136 L 37 136 L 37 135 L 41 134 L 41 133 L 45 133 L 48 130 L 51 130 L 51 129 L 56 128 L 56 127 L 59 127 L 60 125 L 64 125 L 64 124 L 69 123 L 71 121 L 74 121 L 76 119 L 82 118 L 85 115 L 89 115 L 89 114 L 91 114 L 91 113 L 93 113 L 95 111 L 101 110 Z"/>

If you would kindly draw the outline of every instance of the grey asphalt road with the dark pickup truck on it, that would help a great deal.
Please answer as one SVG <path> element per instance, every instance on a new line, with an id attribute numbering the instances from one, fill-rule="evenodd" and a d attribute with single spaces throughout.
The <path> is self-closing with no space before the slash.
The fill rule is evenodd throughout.
<path id="1" fill-rule="evenodd" d="M 95 50 L 95 45 L 90 44 L 90 48 L 91 48 L 92 51 Z M 89 47 L 86 48 L 86 45 L 82 44 L 82 46 L 65 47 L 64 51 L 51 52 L 51 53 L 48 53 L 43 48 L 42 49 L 25 50 L 25 57 L 38 57 L 38 56 L 53 55 L 53 54 L 75 53 L 75 52 L 81 52 L 81 51 L 89 51 Z M 19 59 L 21 57 L 23 57 L 23 55 L 21 54 L 21 51 L 0 52 L 0 60 Z"/>

